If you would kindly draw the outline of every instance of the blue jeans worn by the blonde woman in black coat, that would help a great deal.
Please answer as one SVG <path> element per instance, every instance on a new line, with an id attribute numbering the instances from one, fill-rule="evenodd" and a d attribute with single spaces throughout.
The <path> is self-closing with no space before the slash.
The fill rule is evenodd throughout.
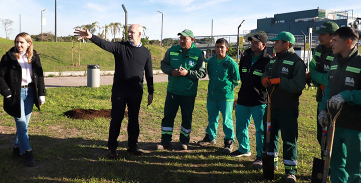
<path id="1" fill-rule="evenodd" d="M 26 150 L 31 150 L 28 135 L 28 124 L 34 106 L 33 87 L 30 87 L 28 89 L 23 87 L 21 88 L 20 106 L 21 117 L 14 117 L 17 125 L 14 146 L 18 146 L 20 149 L 20 153 L 22 154 Z"/>

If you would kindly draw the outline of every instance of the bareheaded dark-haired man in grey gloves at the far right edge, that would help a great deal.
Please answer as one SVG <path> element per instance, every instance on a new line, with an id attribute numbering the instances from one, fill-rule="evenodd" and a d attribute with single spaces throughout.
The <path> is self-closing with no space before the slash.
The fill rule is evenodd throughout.
<path id="1" fill-rule="evenodd" d="M 336 119 L 330 162 L 332 182 L 361 182 L 361 54 L 355 47 L 359 35 L 348 26 L 333 33 L 335 58 L 327 73 L 328 84 L 319 103 L 318 120 L 327 120 L 343 108 Z"/>

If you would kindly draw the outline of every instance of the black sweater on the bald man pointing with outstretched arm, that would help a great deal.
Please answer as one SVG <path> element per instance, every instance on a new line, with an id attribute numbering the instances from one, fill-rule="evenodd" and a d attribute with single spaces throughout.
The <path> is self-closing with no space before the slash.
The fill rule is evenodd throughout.
<path id="1" fill-rule="evenodd" d="M 109 42 L 96 35 L 93 35 L 90 40 L 102 49 L 114 54 L 115 71 L 113 89 L 142 91 L 144 80 L 143 72 L 145 72 L 148 93 L 153 93 L 151 55 L 145 46 L 135 47 L 130 45 L 128 41 Z"/>

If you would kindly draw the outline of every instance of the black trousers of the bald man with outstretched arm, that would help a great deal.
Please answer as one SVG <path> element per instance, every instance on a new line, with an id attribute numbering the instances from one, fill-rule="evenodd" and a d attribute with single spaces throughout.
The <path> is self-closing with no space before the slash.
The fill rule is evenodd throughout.
<path id="1" fill-rule="evenodd" d="M 124 118 L 125 106 L 128 106 L 128 147 L 136 148 L 139 136 L 139 108 L 143 91 L 119 91 L 112 89 L 112 109 L 109 127 L 108 148 L 118 147 L 121 122 Z"/>

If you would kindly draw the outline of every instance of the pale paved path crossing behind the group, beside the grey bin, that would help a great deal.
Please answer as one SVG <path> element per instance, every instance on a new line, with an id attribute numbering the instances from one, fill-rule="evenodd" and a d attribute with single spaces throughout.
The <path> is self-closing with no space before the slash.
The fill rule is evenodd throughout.
<path id="1" fill-rule="evenodd" d="M 154 82 L 168 81 L 166 74 L 154 74 Z M 201 79 L 209 79 L 208 75 Z M 71 87 L 71 86 L 87 86 L 87 76 L 67 76 L 67 77 L 44 77 L 45 87 Z M 144 82 L 146 80 L 144 79 Z M 113 75 L 100 76 L 100 85 L 113 84 Z"/>

